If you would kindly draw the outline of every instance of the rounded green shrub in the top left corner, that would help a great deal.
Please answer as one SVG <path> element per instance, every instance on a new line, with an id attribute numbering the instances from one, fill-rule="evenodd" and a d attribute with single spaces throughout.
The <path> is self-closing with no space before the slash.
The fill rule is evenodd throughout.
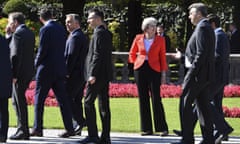
<path id="1" fill-rule="evenodd" d="M 28 15 L 28 7 L 22 0 L 9 0 L 3 7 L 3 12 L 7 15 L 16 11 Z"/>

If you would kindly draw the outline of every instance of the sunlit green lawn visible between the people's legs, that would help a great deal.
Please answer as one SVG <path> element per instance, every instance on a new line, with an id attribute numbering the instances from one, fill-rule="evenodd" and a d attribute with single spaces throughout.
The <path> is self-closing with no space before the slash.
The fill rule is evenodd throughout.
<path id="1" fill-rule="evenodd" d="M 112 131 L 117 132 L 140 132 L 139 120 L 139 105 L 137 98 L 111 98 L 111 114 L 112 114 Z M 163 104 L 166 112 L 169 131 L 180 129 L 179 113 L 178 113 L 178 98 L 164 98 Z M 224 98 L 223 104 L 228 107 L 239 107 L 240 98 Z M 15 111 L 9 104 L 10 126 L 16 126 Z M 96 106 L 97 103 L 96 103 Z M 34 109 L 33 106 L 28 107 L 29 110 L 29 125 L 33 125 Z M 98 113 L 97 113 L 98 114 Z M 98 117 L 98 126 L 101 129 L 101 124 Z M 233 136 L 240 135 L 240 118 L 227 118 L 230 125 L 234 128 Z M 62 118 L 58 107 L 45 107 L 44 111 L 44 127 L 45 128 L 63 128 Z M 195 128 L 195 134 L 200 134 L 199 126 Z"/>

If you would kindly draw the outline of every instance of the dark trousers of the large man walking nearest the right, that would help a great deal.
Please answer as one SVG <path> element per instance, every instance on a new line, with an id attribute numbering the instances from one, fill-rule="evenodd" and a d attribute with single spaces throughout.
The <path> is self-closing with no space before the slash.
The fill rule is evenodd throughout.
<path id="1" fill-rule="evenodd" d="M 209 84 L 199 84 L 194 78 L 184 80 L 183 93 L 180 98 L 180 119 L 183 132 L 182 141 L 194 144 L 194 114 L 193 104 L 196 105 L 198 119 L 203 136 L 203 143 L 214 144 L 213 118 L 210 106 Z"/>

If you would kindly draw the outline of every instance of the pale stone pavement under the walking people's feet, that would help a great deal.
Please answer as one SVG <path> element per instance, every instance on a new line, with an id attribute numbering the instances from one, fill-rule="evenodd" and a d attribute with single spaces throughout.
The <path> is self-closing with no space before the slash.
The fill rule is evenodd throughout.
<path id="1" fill-rule="evenodd" d="M 8 135 L 12 135 L 16 128 L 9 128 Z M 58 129 L 45 129 L 43 132 L 44 137 L 31 137 L 30 140 L 7 140 L 9 144 L 77 144 L 79 140 L 83 139 L 87 132 L 83 131 L 82 136 L 74 136 L 71 138 L 58 138 L 58 134 L 64 130 Z M 178 142 L 181 138 L 170 135 L 167 137 L 160 136 L 140 136 L 138 133 L 119 133 L 112 132 L 112 144 L 171 144 Z M 201 137 L 195 138 L 195 144 L 201 141 Z M 230 137 L 229 141 L 222 142 L 222 144 L 240 144 L 240 137 Z"/>

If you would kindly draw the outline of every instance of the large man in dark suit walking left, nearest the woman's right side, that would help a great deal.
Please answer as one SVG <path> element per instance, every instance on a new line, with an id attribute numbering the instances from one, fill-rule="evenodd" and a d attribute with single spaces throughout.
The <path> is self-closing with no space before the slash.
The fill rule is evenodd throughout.
<path id="1" fill-rule="evenodd" d="M 214 78 L 215 35 L 207 16 L 207 7 L 194 3 L 189 7 L 189 19 L 196 26 L 188 41 L 185 66 L 188 68 L 180 100 L 182 144 L 194 144 L 193 104 L 196 104 L 203 135 L 202 144 L 214 144 L 213 120 L 209 88 Z"/>

